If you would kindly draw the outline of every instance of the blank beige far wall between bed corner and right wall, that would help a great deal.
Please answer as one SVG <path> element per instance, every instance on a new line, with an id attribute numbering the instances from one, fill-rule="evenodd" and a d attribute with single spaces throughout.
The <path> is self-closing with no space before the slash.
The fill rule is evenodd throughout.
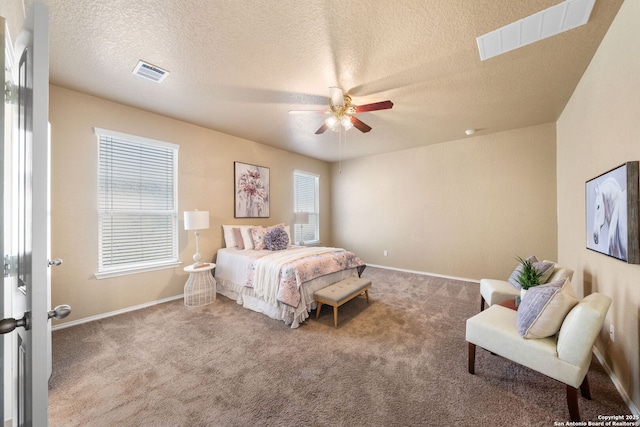
<path id="1" fill-rule="evenodd" d="M 555 138 L 545 124 L 334 164 L 333 241 L 471 279 L 508 277 L 516 255 L 555 260 Z"/>

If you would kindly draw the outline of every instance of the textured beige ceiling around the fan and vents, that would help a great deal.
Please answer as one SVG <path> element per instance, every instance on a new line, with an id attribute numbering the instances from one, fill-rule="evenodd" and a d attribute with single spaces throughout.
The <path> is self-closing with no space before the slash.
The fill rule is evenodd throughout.
<path id="1" fill-rule="evenodd" d="M 4 1 L 4 0 L 3 0 Z M 480 61 L 476 37 L 559 0 L 44 0 L 51 83 L 322 160 L 555 121 L 623 0 L 587 25 Z M 25 3 L 30 3 L 26 0 Z M 170 71 L 132 75 L 139 59 Z M 367 134 L 315 135 L 329 86 Z M 116 129 L 117 130 L 117 129 Z"/>

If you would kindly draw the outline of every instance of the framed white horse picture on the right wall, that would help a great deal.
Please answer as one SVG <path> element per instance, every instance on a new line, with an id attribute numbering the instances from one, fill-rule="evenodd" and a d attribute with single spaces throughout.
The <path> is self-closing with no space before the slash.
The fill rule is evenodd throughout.
<path id="1" fill-rule="evenodd" d="M 640 264 L 638 161 L 585 183 L 587 249 Z"/>

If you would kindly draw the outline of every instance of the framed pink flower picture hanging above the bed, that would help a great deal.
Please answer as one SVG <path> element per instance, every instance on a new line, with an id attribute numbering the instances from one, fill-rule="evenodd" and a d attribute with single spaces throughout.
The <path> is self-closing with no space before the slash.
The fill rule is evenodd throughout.
<path id="1" fill-rule="evenodd" d="M 233 162 L 234 217 L 269 218 L 269 168 Z"/>

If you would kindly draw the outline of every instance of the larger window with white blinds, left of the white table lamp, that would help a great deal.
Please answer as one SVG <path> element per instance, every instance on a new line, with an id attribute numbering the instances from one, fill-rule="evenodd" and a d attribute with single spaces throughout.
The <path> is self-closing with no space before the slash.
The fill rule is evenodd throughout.
<path id="1" fill-rule="evenodd" d="M 178 262 L 178 145 L 95 129 L 98 279 Z"/>

